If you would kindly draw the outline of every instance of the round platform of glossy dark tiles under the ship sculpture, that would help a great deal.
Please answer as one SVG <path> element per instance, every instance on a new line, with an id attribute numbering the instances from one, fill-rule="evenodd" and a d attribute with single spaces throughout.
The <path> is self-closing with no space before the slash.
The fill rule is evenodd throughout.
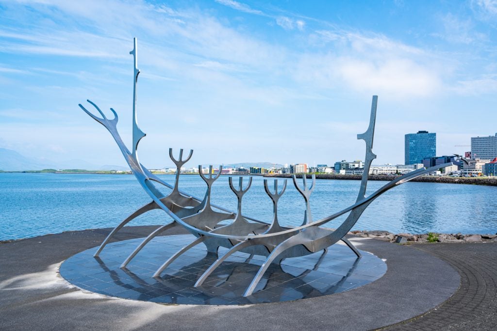
<path id="1" fill-rule="evenodd" d="M 193 235 L 157 237 L 127 265 L 119 266 L 143 241 L 125 240 L 107 245 L 99 258 L 95 248 L 67 259 L 60 274 L 72 284 L 91 292 L 142 301 L 239 305 L 282 302 L 340 293 L 369 284 L 385 274 L 387 265 L 375 255 L 361 251 L 357 259 L 345 245 L 335 244 L 328 252 L 285 259 L 272 264 L 254 293 L 243 293 L 265 257 L 236 253 L 221 264 L 201 287 L 193 287 L 200 275 L 216 261 L 204 245 L 190 249 L 169 265 L 160 278 L 153 273 L 167 258 L 193 241 Z M 222 256 L 227 249 L 220 248 Z"/>

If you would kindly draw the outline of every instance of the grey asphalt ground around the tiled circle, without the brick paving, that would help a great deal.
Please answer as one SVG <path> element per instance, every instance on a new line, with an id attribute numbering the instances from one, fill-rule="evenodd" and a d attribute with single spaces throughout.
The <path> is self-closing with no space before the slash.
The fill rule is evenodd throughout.
<path id="1" fill-rule="evenodd" d="M 125 227 L 116 241 L 144 237 L 156 227 Z M 387 273 L 366 286 L 312 299 L 236 307 L 174 306 L 124 299 L 109 301 L 52 282 L 56 276 L 50 269 L 52 265 L 97 246 L 109 231 L 72 231 L 1 245 L 0 284 L 5 285 L 0 288 L 2 327 L 128 330 L 137 314 L 142 314 L 140 327 L 148 330 L 164 330 L 164 326 L 195 330 L 202 316 L 216 316 L 202 319 L 203 328 L 213 329 L 233 326 L 238 330 L 263 329 L 272 325 L 280 330 L 310 327 L 371 330 L 430 311 L 450 298 L 460 286 L 459 273 L 437 257 L 410 246 L 356 236 L 349 239 L 359 249 L 386 259 Z M 184 230 L 169 234 L 182 233 Z M 303 311 L 306 314 L 302 315 Z M 91 321 L 88 316 L 92 317 Z M 190 322 L 185 324 L 185 321 Z"/>

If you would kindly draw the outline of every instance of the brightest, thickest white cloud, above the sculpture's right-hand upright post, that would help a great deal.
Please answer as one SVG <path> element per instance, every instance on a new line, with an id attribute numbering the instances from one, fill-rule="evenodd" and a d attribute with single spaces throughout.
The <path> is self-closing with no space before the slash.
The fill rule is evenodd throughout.
<path id="1" fill-rule="evenodd" d="M 396 42 L 382 35 L 318 30 L 312 43 L 328 46 L 327 53 L 301 57 L 298 79 L 325 88 L 345 86 L 372 94 L 388 93 L 393 98 L 429 97 L 443 89 L 444 70 L 437 56 Z"/>

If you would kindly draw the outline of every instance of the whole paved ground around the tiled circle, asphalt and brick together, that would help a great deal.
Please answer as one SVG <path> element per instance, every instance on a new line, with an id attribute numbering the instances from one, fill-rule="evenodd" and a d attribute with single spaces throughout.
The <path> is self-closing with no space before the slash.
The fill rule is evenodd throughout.
<path id="1" fill-rule="evenodd" d="M 116 239 L 144 237 L 154 228 L 124 228 Z M 351 238 L 361 250 L 386 259 L 388 271 L 382 278 L 351 291 L 312 299 L 190 306 L 84 292 L 58 275 L 62 261 L 99 245 L 109 230 L 65 232 L 0 244 L 0 329 L 371 330 L 391 326 L 486 330 L 496 321 L 497 245 L 493 243 L 399 246 Z M 177 228 L 168 234 L 183 231 Z M 409 322 L 402 323 L 406 320 Z"/>

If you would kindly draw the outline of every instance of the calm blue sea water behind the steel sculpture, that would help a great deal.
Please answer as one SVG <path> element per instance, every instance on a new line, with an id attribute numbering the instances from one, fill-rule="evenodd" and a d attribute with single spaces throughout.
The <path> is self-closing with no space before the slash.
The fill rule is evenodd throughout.
<path id="1" fill-rule="evenodd" d="M 172 175 L 161 177 L 173 183 Z M 243 211 L 269 222 L 272 202 L 264 192 L 262 180 L 262 177 L 253 178 L 252 187 L 244 197 Z M 247 183 L 248 178 L 244 181 Z M 282 181 L 278 181 L 280 187 Z M 384 184 L 369 182 L 368 192 Z M 354 203 L 359 185 L 359 181 L 318 180 L 311 196 L 314 219 Z M 185 175 L 180 178 L 180 188 L 202 197 L 206 185 L 199 176 Z M 496 233 L 496 197 L 497 187 L 407 183 L 376 199 L 353 229 L 395 233 Z M 150 200 L 132 175 L 0 174 L 0 240 L 114 227 Z M 229 188 L 227 176 L 221 176 L 215 182 L 212 202 L 236 209 L 236 198 Z M 280 223 L 298 225 L 303 220 L 303 213 L 304 200 L 289 180 L 279 201 Z M 344 216 L 335 219 L 328 226 L 336 227 L 344 219 Z M 169 221 L 165 212 L 154 210 L 136 218 L 130 225 Z"/>

